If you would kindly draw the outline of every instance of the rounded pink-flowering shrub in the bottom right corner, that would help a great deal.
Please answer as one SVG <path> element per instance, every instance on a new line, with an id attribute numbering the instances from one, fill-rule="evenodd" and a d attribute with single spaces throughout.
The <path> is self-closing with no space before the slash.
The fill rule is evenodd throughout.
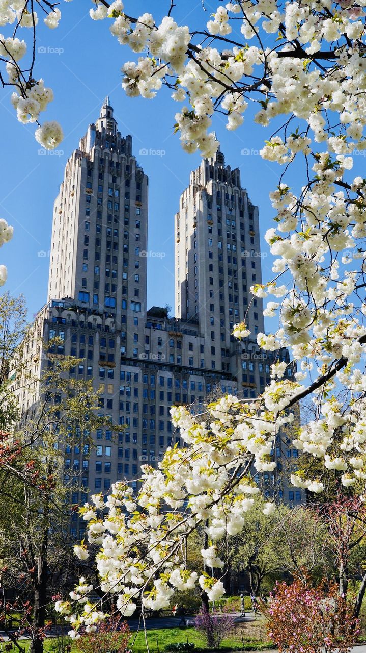
<path id="1" fill-rule="evenodd" d="M 311 588 L 300 579 L 277 583 L 268 604 L 260 609 L 268 618 L 268 636 L 282 651 L 346 653 L 358 635 L 353 606 L 332 584 Z"/>

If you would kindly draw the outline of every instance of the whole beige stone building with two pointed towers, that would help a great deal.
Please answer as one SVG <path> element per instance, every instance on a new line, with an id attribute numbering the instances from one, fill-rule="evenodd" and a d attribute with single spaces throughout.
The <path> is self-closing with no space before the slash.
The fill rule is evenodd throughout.
<path id="1" fill-rule="evenodd" d="M 40 338 L 58 336 L 59 355 L 83 359 L 70 374 L 94 379 L 101 414 L 123 427 L 117 435 L 93 434 L 96 447 L 85 459 L 79 449 L 66 453 L 65 473 L 79 472 L 72 503 L 107 492 L 117 479 L 134 483 L 141 464 L 157 466 L 165 449 L 179 444 L 172 405 L 222 394 L 253 398 L 270 381 L 274 358 L 260 352 L 256 338 L 264 332 L 262 300 L 249 291 L 262 280 L 258 209 L 240 170 L 225 165 L 218 150 L 190 174 L 174 218 L 176 317 L 147 308 L 147 221 L 148 178 L 106 97 L 66 163 L 53 207 L 48 302 L 24 347 L 28 368 L 40 377 L 47 355 L 35 356 L 35 349 Z M 244 315 L 253 337 L 239 343 L 232 326 Z M 281 351 L 282 360 L 288 356 Z M 27 389 L 18 398 L 23 413 L 34 409 Z M 276 447 L 278 470 L 296 454 Z M 266 492 L 290 504 L 302 500 L 281 473 L 267 481 Z M 81 530 L 75 516 L 72 534 Z"/>

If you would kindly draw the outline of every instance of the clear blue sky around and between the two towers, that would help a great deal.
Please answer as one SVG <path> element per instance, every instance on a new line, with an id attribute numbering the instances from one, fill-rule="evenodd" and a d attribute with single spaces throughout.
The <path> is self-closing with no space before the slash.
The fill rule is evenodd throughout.
<path id="1" fill-rule="evenodd" d="M 205 14 L 201 0 L 184 0 L 178 5 L 179 22 L 197 25 L 201 20 L 202 26 L 202 20 L 209 20 L 218 2 L 205 0 Z M 44 78 L 46 86 L 53 88 L 55 99 L 42 114 L 42 120 L 57 119 L 62 123 L 63 155 L 38 154 L 35 126 L 18 123 L 10 104 L 11 91 L 0 89 L 0 217 L 14 226 L 13 240 L 0 249 L 0 263 L 8 267 L 8 282 L 3 290 L 14 295 L 23 293 L 30 315 L 46 301 L 49 259 L 38 253 L 49 250 L 53 200 L 68 156 L 78 146 L 89 123 L 98 117 L 104 97 L 109 94 L 119 129 L 122 135 L 133 136 L 134 153 L 149 177 L 148 248 L 165 253 L 164 258 L 148 259 L 148 306 L 166 302 L 174 306 L 173 218 L 180 193 L 188 185 L 190 170 L 199 164 L 199 155 L 184 153 L 178 135 L 173 135 L 174 114 L 181 104 L 171 100 L 168 89 L 162 89 L 154 100 L 128 99 L 120 86 L 120 67 L 135 55 L 111 36 L 109 20 L 94 22 L 89 18 L 92 3 L 74 0 L 63 2 L 60 7 L 63 18 L 58 29 L 40 25 L 37 47 L 46 52 L 38 54 L 35 76 Z M 125 2 L 126 12 L 139 15 L 150 10 L 156 20 L 167 7 L 169 2 L 165 0 Z M 5 28 L 3 32 L 7 35 Z M 53 52 L 57 49 L 60 54 Z M 251 116 L 249 109 L 244 126 L 236 132 L 225 129 L 225 117 L 220 115 L 214 118 L 212 128 L 221 141 L 226 163 L 240 168 L 242 185 L 259 206 L 263 234 L 272 226 L 274 215 L 268 193 L 277 185 L 283 168 L 260 159 L 257 151 L 274 127 L 253 125 Z M 141 156 L 141 149 L 163 150 L 165 154 Z M 243 155 L 244 149 L 250 153 Z M 358 158 L 363 165 L 363 157 Z M 292 180 L 297 181 L 296 168 Z M 263 240 L 262 246 L 267 251 Z M 262 260 L 266 280 L 272 278 L 271 261 L 270 255 Z"/>

